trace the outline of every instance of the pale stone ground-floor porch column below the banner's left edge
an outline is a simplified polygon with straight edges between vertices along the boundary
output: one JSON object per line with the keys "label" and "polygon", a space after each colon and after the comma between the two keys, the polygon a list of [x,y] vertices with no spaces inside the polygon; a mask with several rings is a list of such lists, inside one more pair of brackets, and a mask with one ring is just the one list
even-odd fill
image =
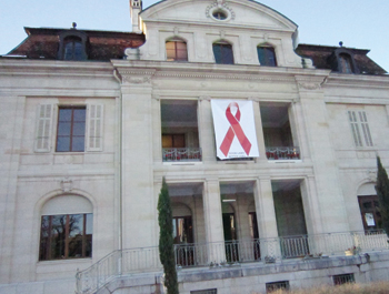
{"label": "pale stone ground-floor porch column below the banner's left edge", "polygon": [[208,179],[205,182],[203,190],[202,200],[208,261],[220,263],[226,261],[226,251],[219,181],[217,179]]}

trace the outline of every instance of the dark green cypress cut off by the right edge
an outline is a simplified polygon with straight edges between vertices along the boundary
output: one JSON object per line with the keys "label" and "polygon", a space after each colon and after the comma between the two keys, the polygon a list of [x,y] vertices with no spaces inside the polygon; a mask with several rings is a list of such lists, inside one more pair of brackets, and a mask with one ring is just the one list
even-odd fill
{"label": "dark green cypress cut off by the right edge", "polygon": [[381,213],[382,229],[389,236],[389,179],[379,156],[377,156],[377,166],[376,191],[380,203],[379,212]]}

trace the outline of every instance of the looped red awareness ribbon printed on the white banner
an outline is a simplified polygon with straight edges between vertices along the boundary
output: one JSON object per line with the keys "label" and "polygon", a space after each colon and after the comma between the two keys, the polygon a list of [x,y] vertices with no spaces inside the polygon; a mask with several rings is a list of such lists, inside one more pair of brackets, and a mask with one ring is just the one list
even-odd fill
{"label": "looped red awareness ribbon printed on the white banner", "polygon": [[[238,109],[237,113],[235,115],[231,113],[232,107],[236,107]],[[225,156],[227,156],[228,152],[230,151],[232,140],[235,136],[237,136],[239,140],[239,143],[243,148],[246,154],[249,155],[250,149],[251,149],[251,143],[250,143],[249,139],[247,139],[242,128],[240,126],[240,123],[239,123],[240,122],[240,110],[239,110],[238,103],[232,102],[228,105],[228,108],[226,110],[226,118],[229,121],[229,123],[231,124],[231,126],[228,129],[228,132],[223,139],[223,142],[220,145],[221,152],[225,154]]]}

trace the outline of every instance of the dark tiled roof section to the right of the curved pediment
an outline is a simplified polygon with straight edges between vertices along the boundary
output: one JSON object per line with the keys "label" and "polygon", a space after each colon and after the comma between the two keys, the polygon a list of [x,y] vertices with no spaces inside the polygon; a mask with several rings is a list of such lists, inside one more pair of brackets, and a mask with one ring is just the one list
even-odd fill
{"label": "dark tiled roof section to the right of the curved pediment", "polygon": [[[317,44],[299,44],[296,52],[313,61],[313,65],[317,69],[331,70],[330,57],[340,47],[332,45],[317,45]],[[368,49],[356,49],[342,47],[342,49],[353,54],[353,59],[361,73],[365,74],[385,74],[387,73],[381,67],[372,61],[367,54],[370,52]]]}

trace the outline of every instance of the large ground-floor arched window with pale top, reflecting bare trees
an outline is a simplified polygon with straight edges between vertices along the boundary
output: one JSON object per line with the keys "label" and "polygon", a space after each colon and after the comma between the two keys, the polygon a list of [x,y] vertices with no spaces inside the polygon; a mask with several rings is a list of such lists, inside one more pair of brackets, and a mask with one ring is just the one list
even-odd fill
{"label": "large ground-floor arched window with pale top, reflecting bare trees", "polygon": [[78,195],[49,200],[41,211],[39,261],[92,256],[92,204]]}

